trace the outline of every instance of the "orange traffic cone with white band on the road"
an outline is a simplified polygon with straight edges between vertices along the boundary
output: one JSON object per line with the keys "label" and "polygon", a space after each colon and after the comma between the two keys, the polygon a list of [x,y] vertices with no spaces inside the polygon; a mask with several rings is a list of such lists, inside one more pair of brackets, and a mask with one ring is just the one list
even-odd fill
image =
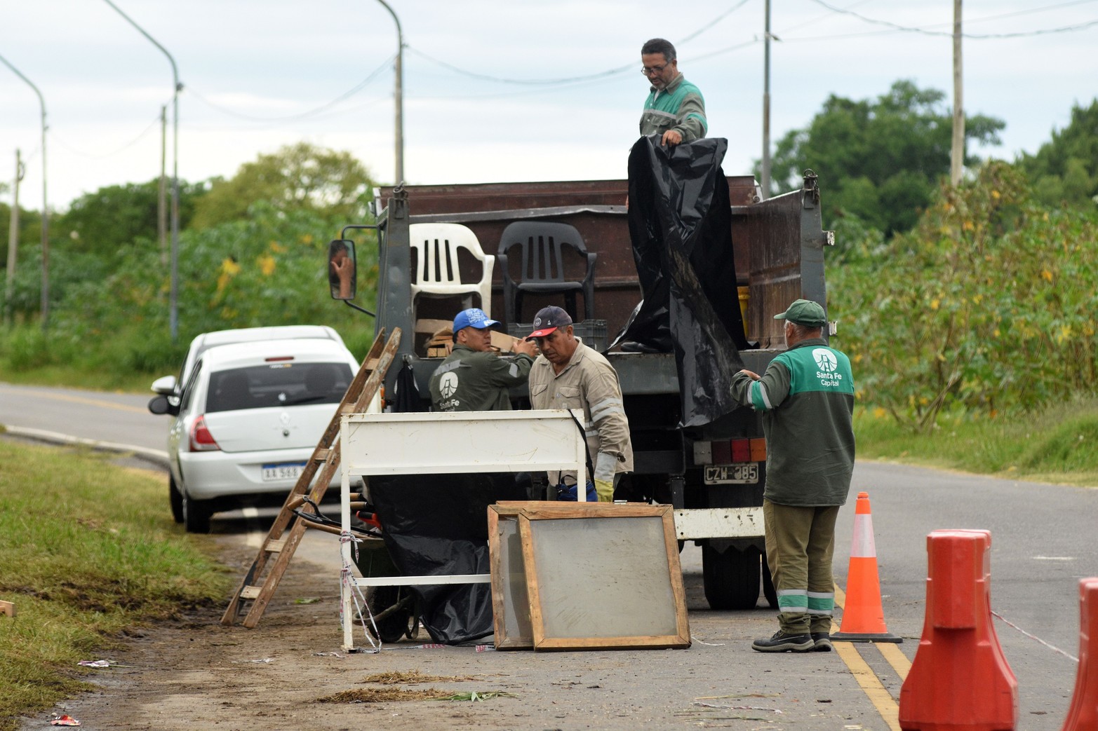
{"label": "orange traffic cone with white band on the road", "polygon": [[842,625],[831,639],[844,642],[904,641],[904,638],[889,634],[885,627],[869,493],[858,493],[854,538],[850,544],[850,571],[847,572],[847,604],[842,608]]}

